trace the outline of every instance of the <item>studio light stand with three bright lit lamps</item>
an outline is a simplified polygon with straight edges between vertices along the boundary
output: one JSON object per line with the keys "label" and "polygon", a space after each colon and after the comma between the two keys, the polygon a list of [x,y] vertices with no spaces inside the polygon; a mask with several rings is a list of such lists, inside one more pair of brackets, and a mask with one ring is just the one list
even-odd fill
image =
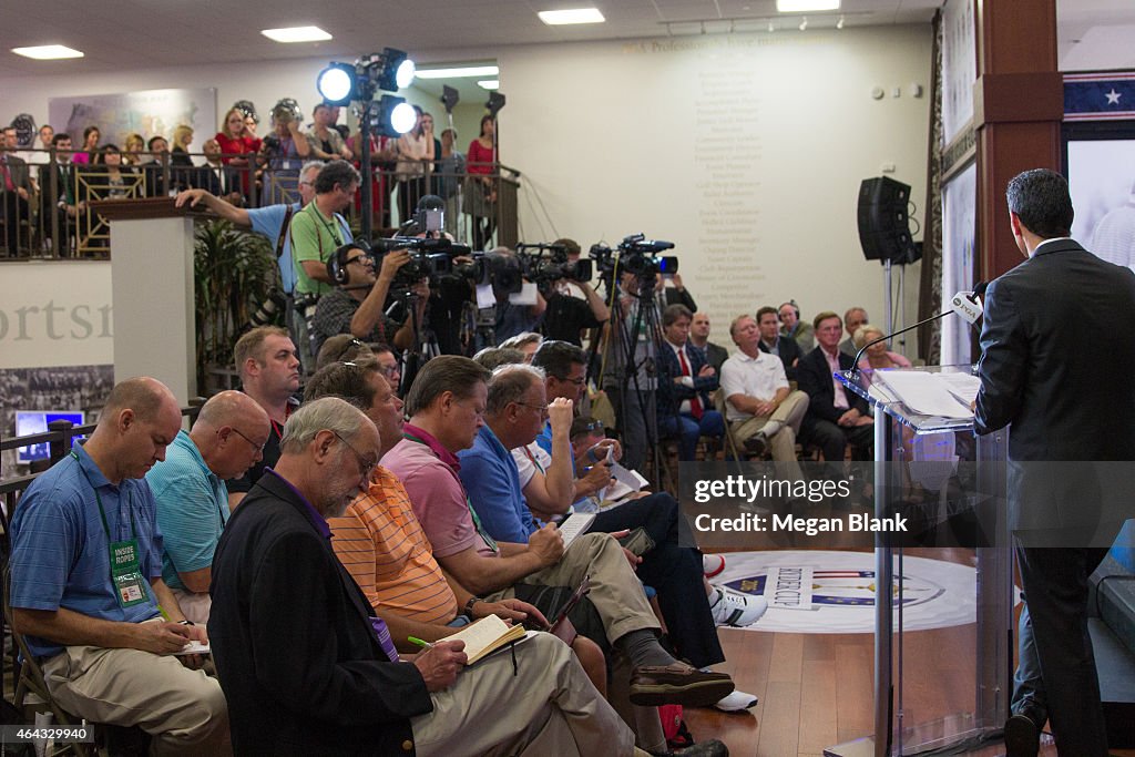
{"label": "studio light stand with three bright lit lamps", "polygon": [[[360,103],[359,138],[362,142],[361,161],[367,175],[362,182],[362,236],[370,238],[373,208],[371,207],[371,150],[372,129],[384,136],[398,136],[414,127],[417,113],[405,98],[378,92],[397,92],[414,81],[414,61],[405,52],[384,48],[359,58],[354,66],[331,62],[319,73],[316,89],[323,101],[331,106]],[[409,116],[407,116],[409,113]]]}

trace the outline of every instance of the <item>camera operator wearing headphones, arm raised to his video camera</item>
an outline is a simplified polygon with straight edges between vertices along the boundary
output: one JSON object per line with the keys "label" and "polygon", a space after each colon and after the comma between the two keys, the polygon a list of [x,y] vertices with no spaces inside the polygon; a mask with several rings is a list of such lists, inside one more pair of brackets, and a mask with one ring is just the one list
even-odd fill
{"label": "camera operator wearing headphones, arm raised to his video camera", "polygon": [[[320,298],[311,321],[311,340],[318,354],[328,337],[351,334],[363,342],[392,343],[400,350],[413,344],[413,325],[389,318],[386,298],[398,269],[410,262],[405,250],[382,256],[381,268],[375,272],[375,260],[365,242],[344,244],[327,261],[327,274],[338,286]],[[422,291],[424,295],[424,291]],[[426,308],[426,297],[418,298],[419,319]]]}

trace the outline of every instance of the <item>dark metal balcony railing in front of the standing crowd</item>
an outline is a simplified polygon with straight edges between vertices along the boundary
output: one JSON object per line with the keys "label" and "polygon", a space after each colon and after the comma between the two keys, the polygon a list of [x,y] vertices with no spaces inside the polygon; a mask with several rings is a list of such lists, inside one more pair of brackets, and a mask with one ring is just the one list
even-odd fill
{"label": "dark metal balcony railing in front of the standing crowd", "polygon": [[[10,154],[10,153],[9,153]],[[271,154],[220,155],[210,165],[204,153],[144,153],[145,163],[112,168],[102,162],[74,163],[72,153],[26,150],[27,165],[15,192],[0,185],[0,259],[107,258],[109,224],[91,202],[109,199],[157,197],[187,188],[203,188],[233,204],[258,208],[299,200],[302,160]],[[235,166],[233,160],[246,165]],[[203,163],[203,165],[202,165]],[[353,161],[361,168],[360,161]],[[420,163],[420,165],[415,165]],[[476,250],[519,242],[520,173],[501,163],[471,165],[473,174],[439,170],[440,161],[371,160],[372,236],[403,227],[422,195],[435,194],[446,204],[445,230]],[[446,163],[447,165],[447,163]],[[485,170],[487,173],[477,173]],[[19,190],[23,190],[20,192]],[[26,196],[25,196],[26,195]],[[347,208],[359,228],[361,197]]]}

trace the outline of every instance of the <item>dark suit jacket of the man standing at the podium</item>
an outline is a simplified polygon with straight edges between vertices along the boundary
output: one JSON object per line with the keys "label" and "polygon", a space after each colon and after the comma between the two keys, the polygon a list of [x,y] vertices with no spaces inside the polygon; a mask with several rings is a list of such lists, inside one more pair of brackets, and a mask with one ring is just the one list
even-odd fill
{"label": "dark suit jacket of the man standing at the podium", "polygon": [[1129,476],[1059,461],[1135,460],[1133,333],[1135,274],[1071,239],[990,284],[974,420],[978,434],[1012,426],[1009,528],[1031,545],[1107,545],[1129,514]]}

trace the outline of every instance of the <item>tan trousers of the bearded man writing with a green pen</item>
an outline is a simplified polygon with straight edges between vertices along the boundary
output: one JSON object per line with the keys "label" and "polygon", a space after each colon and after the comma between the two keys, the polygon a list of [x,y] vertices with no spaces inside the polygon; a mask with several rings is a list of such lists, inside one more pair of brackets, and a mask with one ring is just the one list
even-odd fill
{"label": "tan trousers of the bearded man writing with a green pen", "polygon": [[[574,546],[572,547],[574,549]],[[410,720],[421,757],[633,754],[634,737],[560,639],[538,633],[462,671]]]}

